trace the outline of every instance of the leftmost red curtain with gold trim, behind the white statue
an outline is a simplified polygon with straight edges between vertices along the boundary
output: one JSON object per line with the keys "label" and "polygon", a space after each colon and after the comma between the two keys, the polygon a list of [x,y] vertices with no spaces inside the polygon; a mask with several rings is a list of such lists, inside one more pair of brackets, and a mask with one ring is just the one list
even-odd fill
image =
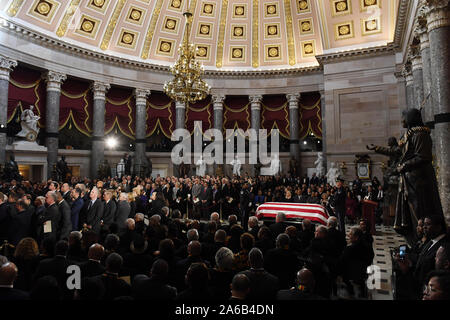
{"label": "leftmost red curtain with gold trim, behind the white statue", "polygon": [[8,122],[14,118],[18,107],[24,110],[33,105],[34,113],[41,117],[38,125],[44,128],[46,97],[46,85],[41,79],[41,72],[17,66],[11,71],[9,79]]}

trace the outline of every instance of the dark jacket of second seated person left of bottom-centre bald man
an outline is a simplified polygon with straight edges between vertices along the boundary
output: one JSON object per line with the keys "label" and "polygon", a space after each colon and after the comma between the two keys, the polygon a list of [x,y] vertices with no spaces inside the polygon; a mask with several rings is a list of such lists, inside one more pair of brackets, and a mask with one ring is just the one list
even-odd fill
{"label": "dark jacket of second seated person left of bottom-centre bald man", "polygon": [[175,300],[177,289],[159,277],[137,275],[133,280],[132,296],[136,300]]}

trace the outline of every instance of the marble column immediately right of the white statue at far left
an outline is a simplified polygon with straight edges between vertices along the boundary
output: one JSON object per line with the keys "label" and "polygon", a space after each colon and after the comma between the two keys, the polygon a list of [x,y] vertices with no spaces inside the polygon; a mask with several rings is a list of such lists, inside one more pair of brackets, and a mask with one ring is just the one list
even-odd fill
{"label": "marble column immediately right of the white statue at far left", "polygon": [[59,99],[61,84],[67,76],[59,72],[48,71],[44,78],[47,82],[45,146],[47,147],[47,178],[50,178],[58,161]]}

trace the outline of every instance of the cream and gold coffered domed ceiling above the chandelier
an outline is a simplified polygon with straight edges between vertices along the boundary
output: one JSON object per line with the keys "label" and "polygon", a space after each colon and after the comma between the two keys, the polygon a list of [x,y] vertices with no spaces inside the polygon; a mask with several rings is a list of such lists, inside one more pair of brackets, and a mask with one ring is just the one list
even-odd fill
{"label": "cream and gold coffered domed ceiling above the chandelier", "polygon": [[210,70],[310,67],[393,40],[398,0],[9,0],[5,19],[83,48],[170,65],[190,41]]}

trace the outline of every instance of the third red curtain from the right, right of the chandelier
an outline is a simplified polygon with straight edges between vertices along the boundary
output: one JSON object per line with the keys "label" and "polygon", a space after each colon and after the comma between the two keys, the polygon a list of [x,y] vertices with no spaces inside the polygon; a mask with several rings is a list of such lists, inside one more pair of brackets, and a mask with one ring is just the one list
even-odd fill
{"label": "third red curtain from the right, right of the chandelier", "polygon": [[[228,96],[224,101],[223,130],[242,129],[244,132],[251,127],[250,103],[248,96]],[[228,136],[226,138],[229,138]]]}

